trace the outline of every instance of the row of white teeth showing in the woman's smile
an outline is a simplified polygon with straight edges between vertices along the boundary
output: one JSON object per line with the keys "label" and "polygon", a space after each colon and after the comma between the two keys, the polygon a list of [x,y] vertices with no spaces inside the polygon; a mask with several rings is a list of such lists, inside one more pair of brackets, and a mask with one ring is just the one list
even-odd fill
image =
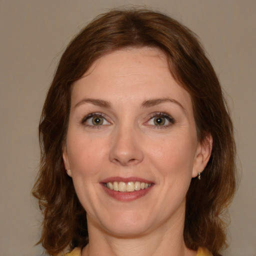
{"label": "row of white teeth showing in the woman's smile", "polygon": [[134,190],[146,189],[151,186],[152,183],[145,183],[140,181],[129,181],[125,182],[107,182],[105,186],[111,190],[120,191],[120,192],[133,192]]}

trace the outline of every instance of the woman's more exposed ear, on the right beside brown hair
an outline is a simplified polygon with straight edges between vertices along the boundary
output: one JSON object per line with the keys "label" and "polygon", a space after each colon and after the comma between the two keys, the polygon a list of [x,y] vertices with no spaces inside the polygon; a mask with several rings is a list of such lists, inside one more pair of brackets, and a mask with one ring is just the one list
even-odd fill
{"label": "woman's more exposed ear, on the right beside brown hair", "polygon": [[201,142],[198,142],[194,157],[192,177],[196,177],[198,172],[205,168],[211,154],[212,136],[207,134]]}

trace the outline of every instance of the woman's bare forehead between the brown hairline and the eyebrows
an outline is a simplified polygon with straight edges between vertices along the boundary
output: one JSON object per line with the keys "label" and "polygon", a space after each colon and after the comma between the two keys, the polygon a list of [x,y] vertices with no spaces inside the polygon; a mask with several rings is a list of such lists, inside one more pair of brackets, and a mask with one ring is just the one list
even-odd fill
{"label": "woman's bare forehead between the brown hairline and the eyebrows", "polygon": [[[73,83],[71,98],[146,100],[172,97],[189,107],[190,95],[174,80],[165,54],[157,48],[125,48],[107,53],[93,62]],[[72,100],[72,101],[73,101]]]}

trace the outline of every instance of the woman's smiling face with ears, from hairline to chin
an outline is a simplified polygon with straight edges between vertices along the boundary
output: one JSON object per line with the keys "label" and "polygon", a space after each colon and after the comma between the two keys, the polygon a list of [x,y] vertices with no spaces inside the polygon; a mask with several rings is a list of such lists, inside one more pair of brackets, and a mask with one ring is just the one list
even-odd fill
{"label": "woman's smiling face with ears, from hairline to chin", "polygon": [[88,226],[127,236],[182,225],[209,151],[160,50],[111,52],[74,82],[63,159]]}

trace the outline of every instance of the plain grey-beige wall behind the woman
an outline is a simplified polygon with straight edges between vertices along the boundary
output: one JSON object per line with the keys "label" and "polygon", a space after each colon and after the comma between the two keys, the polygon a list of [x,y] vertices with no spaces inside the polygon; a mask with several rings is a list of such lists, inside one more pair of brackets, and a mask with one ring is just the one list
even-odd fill
{"label": "plain grey-beige wall behind the woman", "polygon": [[242,165],[223,255],[256,255],[255,0],[0,0],[1,256],[42,252],[33,246],[41,215],[30,190],[40,111],[62,50],[95,15],[129,3],[164,11],[201,38],[230,103]]}

